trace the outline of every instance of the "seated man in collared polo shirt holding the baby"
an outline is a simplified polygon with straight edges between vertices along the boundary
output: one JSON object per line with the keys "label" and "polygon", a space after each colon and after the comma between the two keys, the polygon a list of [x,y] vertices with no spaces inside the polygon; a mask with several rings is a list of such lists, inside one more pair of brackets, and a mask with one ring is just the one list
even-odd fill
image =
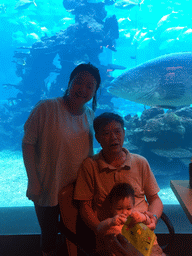
{"label": "seated man in collared polo shirt holding the baby", "polygon": [[[135,209],[147,212],[151,218],[148,227],[155,229],[163,211],[158,196],[159,187],[147,160],[123,148],[125,130],[123,119],[114,113],[103,113],[94,119],[95,137],[102,150],[85,159],[80,166],[74,199],[80,201],[80,215],[95,236],[100,236],[100,223],[105,220],[106,197],[116,183],[127,182],[135,191]],[[147,201],[146,201],[146,199]],[[140,255],[130,251],[130,244],[122,236],[103,237],[107,251],[115,255]],[[125,245],[120,249],[118,241]],[[130,250],[134,250],[131,248]],[[121,251],[121,252],[120,252]]]}

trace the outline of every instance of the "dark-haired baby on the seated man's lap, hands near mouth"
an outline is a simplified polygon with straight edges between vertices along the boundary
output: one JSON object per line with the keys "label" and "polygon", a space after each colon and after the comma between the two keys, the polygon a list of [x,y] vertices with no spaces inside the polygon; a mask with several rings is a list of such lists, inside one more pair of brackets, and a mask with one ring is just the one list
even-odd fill
{"label": "dark-haired baby on the seated man's lap, hands near mouth", "polygon": [[[116,184],[106,199],[109,205],[109,216],[104,221],[100,222],[98,230],[100,234],[115,234],[121,233],[122,227],[127,218],[130,216],[131,222],[129,227],[134,226],[136,223],[142,222],[145,225],[151,223],[151,218],[145,212],[134,210],[135,195],[134,189],[128,183]],[[157,241],[154,242],[152,254],[154,256],[165,255],[159,247]],[[97,241],[98,250],[102,250],[102,240]]]}

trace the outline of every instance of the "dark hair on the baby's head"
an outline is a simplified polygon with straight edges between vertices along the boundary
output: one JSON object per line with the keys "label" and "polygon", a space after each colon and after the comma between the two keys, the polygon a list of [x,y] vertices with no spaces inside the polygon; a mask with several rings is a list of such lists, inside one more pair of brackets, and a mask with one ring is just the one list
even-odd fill
{"label": "dark hair on the baby's head", "polygon": [[133,187],[128,183],[118,183],[112,188],[111,192],[107,196],[107,200],[112,205],[114,202],[118,202],[126,197],[131,197],[133,205],[135,204],[135,192]]}

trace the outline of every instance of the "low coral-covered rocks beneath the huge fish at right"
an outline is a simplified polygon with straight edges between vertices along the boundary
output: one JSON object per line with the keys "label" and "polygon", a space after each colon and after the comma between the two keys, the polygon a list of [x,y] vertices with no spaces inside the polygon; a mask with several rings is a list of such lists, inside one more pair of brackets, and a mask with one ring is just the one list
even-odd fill
{"label": "low coral-covered rocks beneath the huge fish at right", "polygon": [[154,154],[168,161],[189,163],[192,156],[192,108],[144,110],[141,117],[125,117],[128,148],[147,158]]}

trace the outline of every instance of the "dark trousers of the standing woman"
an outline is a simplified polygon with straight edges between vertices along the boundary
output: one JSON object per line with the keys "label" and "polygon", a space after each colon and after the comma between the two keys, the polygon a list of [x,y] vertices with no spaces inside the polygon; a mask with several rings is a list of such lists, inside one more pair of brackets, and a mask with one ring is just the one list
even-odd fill
{"label": "dark trousers of the standing woman", "polygon": [[59,225],[59,205],[39,206],[35,204],[37,219],[41,228],[41,249],[44,252],[56,250]]}

